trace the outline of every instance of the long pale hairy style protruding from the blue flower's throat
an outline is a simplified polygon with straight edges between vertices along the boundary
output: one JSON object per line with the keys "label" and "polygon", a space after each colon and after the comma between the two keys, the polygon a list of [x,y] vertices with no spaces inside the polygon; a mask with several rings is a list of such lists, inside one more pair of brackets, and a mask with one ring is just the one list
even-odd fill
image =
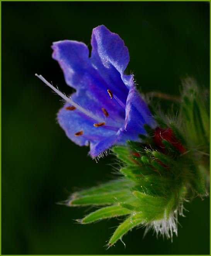
{"label": "long pale hairy style protruding from the blue flower's throat", "polygon": [[68,103],[70,103],[71,105],[73,105],[75,108],[77,108],[80,112],[84,113],[85,115],[87,115],[88,117],[91,117],[94,120],[97,120],[99,122],[105,122],[104,119],[94,115],[92,112],[85,110],[84,108],[82,108],[80,105],[78,105],[77,103],[75,103],[73,100],[71,100],[71,98],[67,97],[65,94],[63,94],[61,91],[59,91],[58,89],[56,89],[52,84],[50,84],[48,81],[46,81],[46,79],[44,79],[43,76],[41,75],[37,75],[35,74],[35,76],[37,76],[39,79],[41,79],[46,85],[48,85],[51,89],[53,89],[59,96],[61,96],[64,100],[66,100]]}

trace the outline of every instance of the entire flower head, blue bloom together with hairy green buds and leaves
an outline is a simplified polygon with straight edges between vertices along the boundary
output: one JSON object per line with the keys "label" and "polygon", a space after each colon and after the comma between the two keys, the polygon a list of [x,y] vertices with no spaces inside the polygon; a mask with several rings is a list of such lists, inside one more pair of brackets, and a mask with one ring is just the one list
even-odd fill
{"label": "entire flower head, blue bloom together with hairy green buds and leaves", "polygon": [[[172,239],[187,197],[193,193],[208,196],[207,108],[197,98],[196,83],[187,82],[180,115],[184,116],[183,131],[192,129],[190,135],[183,136],[174,122],[151,114],[135,88],[133,75],[124,73],[129,53],[117,34],[98,26],[93,29],[91,45],[89,57],[82,42],[53,43],[53,58],[59,62],[66,83],[76,89],[71,96],[36,76],[65,99],[58,122],[73,142],[90,145],[93,158],[114,146],[121,178],[74,193],[65,204],[102,206],[78,220],[83,224],[126,216],[108,247],[140,225],[146,226],[145,234],[152,228],[157,236],[160,233]],[[200,137],[200,151],[196,135]]]}

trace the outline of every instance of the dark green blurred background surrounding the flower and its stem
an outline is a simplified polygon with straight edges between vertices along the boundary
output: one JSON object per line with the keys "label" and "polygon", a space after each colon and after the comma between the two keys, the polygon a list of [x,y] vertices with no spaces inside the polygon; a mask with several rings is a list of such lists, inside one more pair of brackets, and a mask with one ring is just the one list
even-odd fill
{"label": "dark green blurred background surrounding the flower and its stem", "polygon": [[[209,2],[2,2],[2,254],[209,254],[209,198],[185,204],[173,243],[134,229],[109,250],[119,220],[78,225],[93,209],[56,204],[70,192],[112,179],[112,159],[98,163],[56,123],[66,94],[53,41],[90,46],[104,24],[129,49],[128,73],[141,91],[179,96],[181,79],[209,88]],[[167,103],[168,105],[168,103]],[[170,103],[169,103],[170,105]]]}

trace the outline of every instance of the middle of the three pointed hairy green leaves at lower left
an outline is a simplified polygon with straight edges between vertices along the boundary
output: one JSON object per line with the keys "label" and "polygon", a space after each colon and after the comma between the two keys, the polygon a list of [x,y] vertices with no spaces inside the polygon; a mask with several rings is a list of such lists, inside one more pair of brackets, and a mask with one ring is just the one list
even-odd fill
{"label": "middle of the three pointed hairy green leaves at lower left", "polygon": [[107,207],[101,208],[97,211],[94,211],[93,213],[90,213],[85,218],[83,218],[82,220],[78,220],[78,221],[82,224],[86,224],[86,223],[94,222],[96,220],[127,215],[130,213],[131,213],[131,211],[129,211],[127,209],[123,209],[118,205],[107,206]]}

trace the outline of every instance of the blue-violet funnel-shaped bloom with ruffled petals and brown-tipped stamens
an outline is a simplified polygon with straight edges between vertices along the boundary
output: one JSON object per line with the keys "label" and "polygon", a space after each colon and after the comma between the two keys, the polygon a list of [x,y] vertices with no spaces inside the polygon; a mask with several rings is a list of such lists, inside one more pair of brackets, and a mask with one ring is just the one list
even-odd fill
{"label": "blue-violet funnel-shaped bloom with ruffled petals and brown-tipped stamens", "polygon": [[[53,58],[64,72],[66,83],[76,89],[71,102],[58,113],[58,122],[76,144],[90,145],[90,155],[99,156],[116,143],[139,140],[143,124],[152,124],[150,110],[125,75],[128,48],[104,25],[92,31],[92,52],[78,41],[53,43]],[[80,105],[80,110],[78,105]],[[87,111],[88,110],[88,111]]]}

